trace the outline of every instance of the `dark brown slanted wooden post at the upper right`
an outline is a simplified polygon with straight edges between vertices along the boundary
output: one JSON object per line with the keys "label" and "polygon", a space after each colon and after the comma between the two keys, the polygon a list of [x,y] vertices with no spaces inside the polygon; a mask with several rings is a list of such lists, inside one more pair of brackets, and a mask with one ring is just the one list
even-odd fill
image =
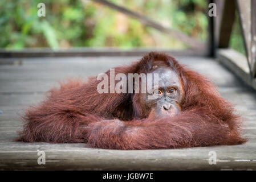
{"label": "dark brown slanted wooden post at the upper right", "polygon": [[220,24],[219,48],[229,47],[229,39],[235,20],[235,2],[234,0],[225,0],[222,18]]}

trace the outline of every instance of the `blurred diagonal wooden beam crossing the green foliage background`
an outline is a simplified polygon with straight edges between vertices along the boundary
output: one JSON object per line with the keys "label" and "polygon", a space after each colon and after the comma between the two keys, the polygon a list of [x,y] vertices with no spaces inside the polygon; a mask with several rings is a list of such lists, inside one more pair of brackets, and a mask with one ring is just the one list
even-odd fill
{"label": "blurred diagonal wooden beam crossing the green foliage background", "polygon": [[104,6],[108,6],[111,9],[117,10],[120,13],[123,13],[125,15],[131,16],[132,18],[135,18],[135,19],[139,20],[145,26],[152,27],[152,28],[155,28],[156,30],[164,32],[167,35],[170,35],[173,38],[176,38],[177,40],[180,40],[181,42],[183,42],[185,44],[188,44],[192,48],[199,48],[199,49],[204,49],[205,48],[205,44],[201,43],[199,40],[191,38],[191,37],[183,34],[180,31],[173,30],[172,28],[162,26],[162,24],[157,23],[154,20],[149,19],[148,17],[146,17],[144,15],[141,15],[139,13],[135,13],[131,10],[128,10],[125,7],[115,5],[114,3],[109,2],[109,1],[105,1],[105,0],[92,0],[92,1],[100,3],[101,5],[104,5]]}

